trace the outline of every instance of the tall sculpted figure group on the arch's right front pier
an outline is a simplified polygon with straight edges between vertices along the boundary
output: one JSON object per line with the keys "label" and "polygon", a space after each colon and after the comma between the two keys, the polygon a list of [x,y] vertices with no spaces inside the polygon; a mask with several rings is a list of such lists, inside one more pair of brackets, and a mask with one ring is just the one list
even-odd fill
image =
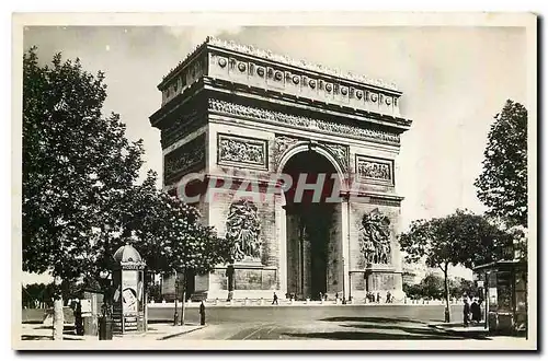
{"label": "tall sculpted figure group on the arch's right front pier", "polygon": [[390,264],[390,220],[378,208],[362,218],[361,251],[367,265]]}

